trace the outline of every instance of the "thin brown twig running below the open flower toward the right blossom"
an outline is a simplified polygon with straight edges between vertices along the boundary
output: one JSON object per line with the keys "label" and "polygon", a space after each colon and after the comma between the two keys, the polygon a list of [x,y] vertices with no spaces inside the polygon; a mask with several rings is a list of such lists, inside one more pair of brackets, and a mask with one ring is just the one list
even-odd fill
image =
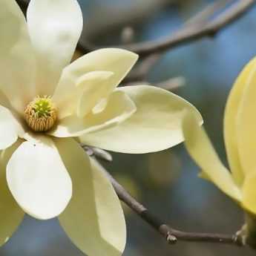
{"label": "thin brown twig running below the open flower toward the right blossom", "polygon": [[125,188],[120,185],[111,174],[108,173],[105,168],[102,167],[102,171],[111,180],[112,185],[118,195],[119,199],[122,200],[130,209],[138,214],[142,220],[144,220],[152,228],[156,229],[163,237],[165,237],[168,243],[174,244],[178,240],[191,241],[191,242],[209,242],[209,243],[229,243],[236,246],[243,246],[243,242],[238,234],[209,234],[209,233],[194,233],[194,232],[182,232],[177,229],[172,229],[170,226],[165,224],[163,220],[154,215],[150,210],[145,208],[139,203]]}

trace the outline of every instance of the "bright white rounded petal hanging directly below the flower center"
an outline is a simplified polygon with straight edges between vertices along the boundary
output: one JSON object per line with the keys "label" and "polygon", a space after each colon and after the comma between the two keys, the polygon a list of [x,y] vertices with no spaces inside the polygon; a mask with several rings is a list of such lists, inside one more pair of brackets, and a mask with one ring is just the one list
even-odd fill
{"label": "bright white rounded petal hanging directly below the flower center", "polygon": [[7,164],[7,184],[19,206],[40,220],[59,215],[68,205],[72,183],[53,141],[23,142]]}

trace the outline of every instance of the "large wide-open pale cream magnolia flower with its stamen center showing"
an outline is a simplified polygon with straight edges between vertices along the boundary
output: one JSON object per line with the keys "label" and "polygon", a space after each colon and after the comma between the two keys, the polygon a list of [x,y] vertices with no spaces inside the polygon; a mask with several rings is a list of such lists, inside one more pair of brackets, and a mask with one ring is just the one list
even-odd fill
{"label": "large wide-open pale cream magnolia flower with its stamen center showing", "polygon": [[83,23],[76,0],[31,0],[27,21],[16,1],[1,0],[0,21],[0,243],[25,212],[59,216],[88,255],[121,255],[119,200],[78,141],[160,151],[183,141],[186,111],[202,122],[200,114],[160,88],[116,89],[137,61],[127,50],[96,50],[69,65]]}

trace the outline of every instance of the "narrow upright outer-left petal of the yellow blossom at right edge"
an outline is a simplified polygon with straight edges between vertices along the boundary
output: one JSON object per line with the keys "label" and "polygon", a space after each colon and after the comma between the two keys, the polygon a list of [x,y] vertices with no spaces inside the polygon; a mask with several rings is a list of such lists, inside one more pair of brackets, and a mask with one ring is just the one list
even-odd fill
{"label": "narrow upright outer-left petal of the yellow blossom at right edge", "polygon": [[243,168],[240,163],[240,157],[237,145],[237,113],[240,102],[243,98],[249,74],[256,68],[256,58],[252,59],[234,82],[232,91],[229,93],[229,98],[226,103],[224,115],[224,138],[226,145],[226,153],[229,160],[229,165],[232,170],[232,175],[237,185],[243,183]]}

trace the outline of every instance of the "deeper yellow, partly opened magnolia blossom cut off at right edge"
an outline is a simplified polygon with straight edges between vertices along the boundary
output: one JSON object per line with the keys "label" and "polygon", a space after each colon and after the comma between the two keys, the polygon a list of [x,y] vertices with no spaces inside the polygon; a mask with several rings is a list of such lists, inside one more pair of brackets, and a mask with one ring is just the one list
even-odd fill
{"label": "deeper yellow, partly opened magnolia blossom cut off at right edge", "polygon": [[183,132],[186,148],[211,180],[249,214],[256,214],[256,59],[238,76],[226,104],[224,137],[231,172],[220,162],[206,132],[186,116]]}

